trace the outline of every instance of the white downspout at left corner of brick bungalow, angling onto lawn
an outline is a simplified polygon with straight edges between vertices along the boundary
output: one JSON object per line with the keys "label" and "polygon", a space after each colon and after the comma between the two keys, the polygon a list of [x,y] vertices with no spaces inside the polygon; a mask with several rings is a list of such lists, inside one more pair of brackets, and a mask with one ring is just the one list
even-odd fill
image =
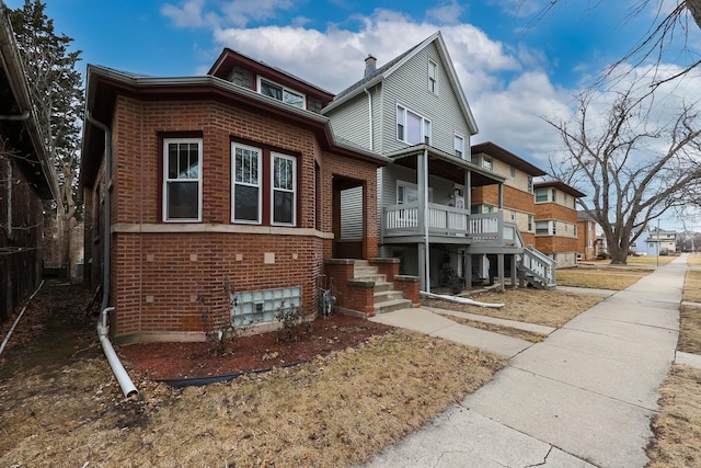
{"label": "white downspout at left corner of brick bungalow, angling onto lawn", "polygon": [[103,243],[103,274],[102,274],[102,313],[100,315],[100,319],[97,320],[97,336],[100,336],[100,344],[102,345],[102,350],[107,357],[107,362],[110,363],[110,367],[112,367],[112,372],[114,373],[119,387],[122,387],[122,392],[125,397],[129,398],[131,395],[138,393],[136,387],[131,383],[129,375],[124,369],[124,366],[119,362],[117,357],[117,353],[115,353],[112,343],[110,342],[108,333],[110,327],[107,326],[107,313],[114,310],[114,307],[107,307],[110,304],[110,284],[111,279],[111,239],[112,239],[112,130],[102,122],[93,118],[90,111],[85,112],[85,119],[90,122],[92,125],[102,129],[105,134],[105,183],[104,183],[104,195],[105,195],[105,208],[104,208],[104,243]]}

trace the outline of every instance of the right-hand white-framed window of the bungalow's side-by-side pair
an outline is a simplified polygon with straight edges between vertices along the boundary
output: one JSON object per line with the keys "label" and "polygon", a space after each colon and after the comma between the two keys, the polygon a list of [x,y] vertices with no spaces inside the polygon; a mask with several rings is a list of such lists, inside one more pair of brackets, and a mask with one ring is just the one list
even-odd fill
{"label": "right-hand white-framed window of the bungalow's side-by-side pair", "polygon": [[272,224],[294,226],[297,222],[297,159],[277,152],[273,152],[272,158]]}

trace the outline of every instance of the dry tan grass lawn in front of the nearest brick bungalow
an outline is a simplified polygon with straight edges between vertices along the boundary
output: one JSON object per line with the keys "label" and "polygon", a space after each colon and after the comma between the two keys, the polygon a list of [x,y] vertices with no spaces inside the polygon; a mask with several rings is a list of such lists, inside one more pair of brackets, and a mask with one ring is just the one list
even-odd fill
{"label": "dry tan grass lawn in front of the nearest brick bungalow", "polygon": [[[489,381],[505,359],[405,331],[207,387],[137,381],[103,358],[0,386],[0,466],[350,466]],[[89,464],[89,465],[88,465]]]}

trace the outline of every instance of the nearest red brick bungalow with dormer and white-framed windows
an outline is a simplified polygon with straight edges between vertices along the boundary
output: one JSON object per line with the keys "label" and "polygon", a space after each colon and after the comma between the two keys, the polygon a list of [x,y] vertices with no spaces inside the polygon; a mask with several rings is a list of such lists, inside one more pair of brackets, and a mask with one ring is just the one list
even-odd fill
{"label": "nearest red brick bungalow with dormer and white-framed windows", "polygon": [[331,99],[230,49],[194,78],[88,67],[87,277],[110,276],[117,342],[202,340],[204,317],[232,309],[239,324],[274,322],[283,304],[315,311],[343,190],[361,187],[358,249],[377,255],[388,159],[334,139],[318,113]]}

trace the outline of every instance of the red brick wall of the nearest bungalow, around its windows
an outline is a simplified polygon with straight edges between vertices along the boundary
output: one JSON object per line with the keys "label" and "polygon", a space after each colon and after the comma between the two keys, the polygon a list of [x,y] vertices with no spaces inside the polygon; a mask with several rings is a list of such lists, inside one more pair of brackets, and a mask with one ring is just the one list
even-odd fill
{"label": "red brick wall of the nearest bungalow, around its windows", "polygon": [[[203,138],[202,222],[161,222],[159,135],[177,133],[199,133]],[[304,229],[301,235],[275,233],[271,231],[279,230],[265,226],[258,227],[260,233],[230,231],[231,138],[298,157],[295,233]],[[332,232],[334,179],[365,184],[364,254],[377,255],[376,165],[323,151],[309,129],[212,101],[140,102],[119,96],[113,141],[112,221],[116,232],[112,236],[111,297],[117,340],[138,341],[143,333],[202,332],[198,297],[226,309],[227,278],[239,292],[301,286],[302,309],[315,311],[315,277],[323,259],[331,255],[333,241],[313,229],[323,236]],[[147,232],[143,225],[146,230],[161,232]],[[275,263],[264,263],[264,253],[274,254]]]}

